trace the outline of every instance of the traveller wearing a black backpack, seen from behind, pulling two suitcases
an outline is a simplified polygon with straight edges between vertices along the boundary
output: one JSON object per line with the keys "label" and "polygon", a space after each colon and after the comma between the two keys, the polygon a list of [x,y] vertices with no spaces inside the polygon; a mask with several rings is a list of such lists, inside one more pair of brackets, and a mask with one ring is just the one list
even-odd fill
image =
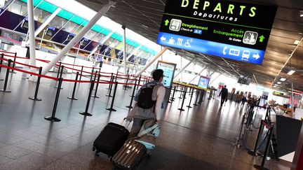
{"label": "traveller wearing a black backpack, seen from behind, pulling two suitcases", "polygon": [[142,126],[147,129],[160,120],[161,106],[166,94],[166,88],[161,83],[163,70],[152,71],[152,77],[154,80],[142,85],[135,95],[135,106],[126,117],[126,120],[133,120],[128,139],[137,136]]}

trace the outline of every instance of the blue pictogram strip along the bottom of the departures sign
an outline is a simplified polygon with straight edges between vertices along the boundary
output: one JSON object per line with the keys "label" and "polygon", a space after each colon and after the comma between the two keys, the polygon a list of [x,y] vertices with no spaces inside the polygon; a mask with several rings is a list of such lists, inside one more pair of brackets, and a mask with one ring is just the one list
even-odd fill
{"label": "blue pictogram strip along the bottom of the departures sign", "polygon": [[213,41],[205,41],[198,38],[190,38],[187,36],[179,36],[164,32],[159,32],[157,43],[159,45],[166,45],[173,48],[191,50],[201,52],[203,54],[215,55],[228,59],[234,59],[240,62],[248,62],[260,65],[262,64],[265,53],[264,50],[243,48],[236,45],[216,43]]}

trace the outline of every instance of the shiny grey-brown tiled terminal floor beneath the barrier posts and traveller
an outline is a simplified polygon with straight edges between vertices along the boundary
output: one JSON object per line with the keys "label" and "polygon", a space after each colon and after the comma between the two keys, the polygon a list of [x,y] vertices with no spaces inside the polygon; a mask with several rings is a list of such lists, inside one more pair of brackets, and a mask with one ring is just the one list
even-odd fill
{"label": "shiny grey-brown tiled terminal floor beneath the barrier posts and traveller", "polygon": [[[4,78],[2,69],[1,78]],[[65,77],[74,75],[65,75]],[[83,78],[84,79],[84,78]],[[0,82],[0,88],[4,82]],[[61,122],[49,122],[55,100],[55,82],[42,79],[39,97],[32,101],[35,83],[22,78],[21,73],[10,76],[11,93],[0,92],[0,169],[113,169],[106,155],[95,157],[93,141],[107,122],[120,123],[127,115],[132,90],[119,85],[114,108],[109,112],[112,98],[105,97],[108,85],[100,85],[99,99],[91,98],[89,113],[84,117],[88,83],[77,87],[77,101],[67,99],[74,83],[63,83],[56,117]],[[178,94],[180,95],[180,94]],[[179,96],[177,96],[179,97]],[[184,106],[189,103],[187,97]],[[222,109],[217,99],[204,99],[194,108],[180,112],[181,101],[166,104],[161,121],[161,135],[152,157],[144,158],[137,169],[254,169],[261,157],[248,155],[246,150],[231,146],[245,111],[239,104],[228,101]],[[257,132],[253,130],[252,134]],[[254,138],[248,142],[253,149]],[[290,163],[269,160],[270,169],[290,169]]]}

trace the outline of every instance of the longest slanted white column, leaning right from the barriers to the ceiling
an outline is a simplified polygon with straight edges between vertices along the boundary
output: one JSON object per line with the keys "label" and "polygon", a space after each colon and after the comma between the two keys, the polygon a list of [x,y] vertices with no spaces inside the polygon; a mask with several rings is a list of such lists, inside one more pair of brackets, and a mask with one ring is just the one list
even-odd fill
{"label": "longest slanted white column, leaning right from the barriers to the ceiling", "polygon": [[74,47],[74,45],[86,34],[86,32],[88,30],[90,30],[91,27],[93,27],[93,25],[97,22],[97,20],[100,19],[100,17],[102,17],[102,15],[104,15],[107,10],[109,10],[109,8],[116,4],[116,2],[114,1],[109,1],[107,4],[105,4],[105,6],[103,6],[98,12],[97,14],[90,20],[90,22],[88,22],[88,24],[86,24],[85,27],[83,27],[83,29],[81,29],[81,31],[79,32],[79,34],[77,34],[74,38],[72,38],[71,41],[69,41],[69,43],[67,45],[65,45],[65,48],[63,48],[58,55],[43,69],[42,74],[45,75],[46,73],[48,73],[48,71],[50,71],[50,69],[55,66],[55,64],[62,58],[65,56],[65,54],[72,48]]}

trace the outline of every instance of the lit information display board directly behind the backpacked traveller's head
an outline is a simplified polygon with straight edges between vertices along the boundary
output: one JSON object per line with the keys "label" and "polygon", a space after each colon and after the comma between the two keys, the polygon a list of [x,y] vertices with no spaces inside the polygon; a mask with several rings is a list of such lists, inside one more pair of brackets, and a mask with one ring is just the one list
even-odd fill
{"label": "lit information display board directly behind the backpacked traveller's head", "polygon": [[175,67],[177,64],[170,62],[158,61],[157,69],[163,70],[163,85],[165,87],[171,87],[173,84],[173,77],[175,74]]}

